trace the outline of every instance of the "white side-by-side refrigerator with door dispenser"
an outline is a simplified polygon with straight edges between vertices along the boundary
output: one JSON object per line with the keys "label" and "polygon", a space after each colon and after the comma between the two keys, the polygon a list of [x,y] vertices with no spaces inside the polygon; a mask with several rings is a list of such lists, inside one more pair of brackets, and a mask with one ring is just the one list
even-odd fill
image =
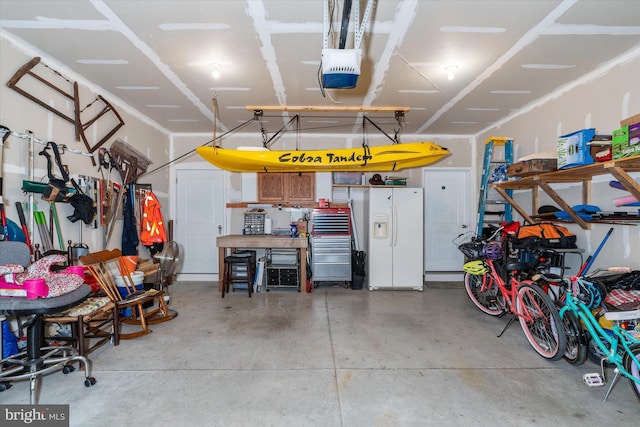
{"label": "white side-by-side refrigerator with door dispenser", "polygon": [[373,187],[369,193],[369,290],[424,285],[422,188]]}

